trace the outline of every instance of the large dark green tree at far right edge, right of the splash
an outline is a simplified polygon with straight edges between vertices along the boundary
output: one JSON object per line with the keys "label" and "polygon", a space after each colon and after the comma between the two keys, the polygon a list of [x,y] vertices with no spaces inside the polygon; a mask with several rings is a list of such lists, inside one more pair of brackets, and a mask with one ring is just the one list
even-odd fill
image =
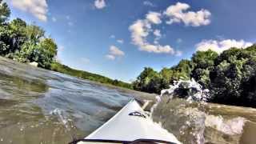
{"label": "large dark green tree at far right edge, right of the splash", "polygon": [[224,51],[210,71],[212,102],[256,106],[256,46]]}

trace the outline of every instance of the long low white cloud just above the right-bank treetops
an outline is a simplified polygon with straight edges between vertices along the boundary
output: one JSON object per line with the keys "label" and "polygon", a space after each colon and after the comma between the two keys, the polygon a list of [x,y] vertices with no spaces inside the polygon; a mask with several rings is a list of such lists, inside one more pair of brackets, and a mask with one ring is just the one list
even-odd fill
{"label": "long low white cloud just above the right-bank treetops", "polygon": [[252,46],[252,42],[245,42],[244,40],[235,40],[235,39],[226,39],[222,41],[216,40],[203,40],[196,45],[196,49],[199,51],[206,51],[206,50],[214,50],[218,54],[222,53],[224,50],[228,50],[231,47],[237,48],[246,48],[248,46]]}

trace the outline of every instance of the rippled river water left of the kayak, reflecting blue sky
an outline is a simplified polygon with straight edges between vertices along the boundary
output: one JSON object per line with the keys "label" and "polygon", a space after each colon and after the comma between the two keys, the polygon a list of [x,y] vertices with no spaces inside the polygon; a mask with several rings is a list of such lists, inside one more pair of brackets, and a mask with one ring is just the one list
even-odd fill
{"label": "rippled river water left of the kayak, reflecting blue sky", "polygon": [[83,138],[121,109],[127,95],[0,58],[0,143]]}

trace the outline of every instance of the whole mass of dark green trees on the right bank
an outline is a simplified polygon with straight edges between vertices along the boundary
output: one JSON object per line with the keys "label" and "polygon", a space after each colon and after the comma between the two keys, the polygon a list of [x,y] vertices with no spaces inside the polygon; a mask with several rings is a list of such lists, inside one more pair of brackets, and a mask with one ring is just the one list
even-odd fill
{"label": "whole mass of dark green trees on the right bank", "polygon": [[159,93],[174,80],[190,78],[210,90],[209,102],[256,107],[256,45],[222,54],[197,51],[190,61],[182,60],[159,73],[146,67],[133,85],[135,90]]}

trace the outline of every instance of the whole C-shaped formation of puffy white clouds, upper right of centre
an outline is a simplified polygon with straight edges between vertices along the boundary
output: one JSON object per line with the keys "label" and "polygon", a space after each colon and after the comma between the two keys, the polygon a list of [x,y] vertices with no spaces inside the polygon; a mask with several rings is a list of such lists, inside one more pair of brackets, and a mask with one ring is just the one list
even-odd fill
{"label": "whole C-shaped formation of puffy white clouds, upper right of centre", "polygon": [[[210,24],[211,14],[209,10],[202,9],[194,12],[188,11],[189,8],[190,6],[186,3],[177,2],[175,5],[167,7],[163,13],[154,11],[148,12],[145,18],[138,19],[129,27],[133,44],[138,46],[139,50],[181,56],[182,51],[174,50],[170,45],[162,46],[159,44],[162,34],[155,26],[162,23],[163,17],[169,19],[166,22],[167,24],[174,22],[182,22],[186,26],[205,26]],[[150,34],[154,35],[154,42],[152,43],[147,41]],[[182,42],[182,39],[178,39],[177,42]]]}

